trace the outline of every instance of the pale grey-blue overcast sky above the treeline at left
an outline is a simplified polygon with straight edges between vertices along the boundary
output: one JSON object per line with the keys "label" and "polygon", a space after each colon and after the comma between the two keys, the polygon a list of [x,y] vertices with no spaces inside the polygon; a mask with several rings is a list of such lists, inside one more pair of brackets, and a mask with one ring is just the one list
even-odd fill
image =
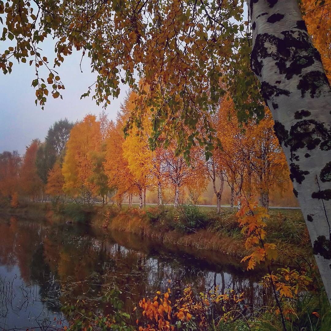
{"label": "pale grey-blue overcast sky above the treeline at left", "polygon": [[[53,49],[53,42],[45,45],[44,50],[49,50],[46,56],[54,54],[51,52]],[[2,52],[3,49],[0,49],[0,53]],[[86,58],[83,62],[83,73],[80,72],[80,54],[76,52],[65,57],[64,63],[58,69],[66,87],[62,91],[63,100],[53,99],[50,93],[44,110],[34,103],[35,90],[31,87],[31,81],[35,78],[33,65],[29,67],[28,61],[20,65],[13,61],[11,74],[4,75],[2,71],[0,72],[0,153],[17,150],[20,154],[24,154],[25,146],[32,139],[44,140],[49,127],[55,121],[61,118],[76,121],[81,120],[88,113],[98,115],[101,112],[101,106],[98,107],[91,97],[80,100],[80,96],[95,81],[95,76],[91,74],[89,59]],[[53,59],[54,57],[48,57],[51,64]],[[47,76],[48,74],[45,78]],[[106,110],[110,119],[116,118],[116,113],[128,90],[127,86],[120,87],[118,99],[112,101]]]}

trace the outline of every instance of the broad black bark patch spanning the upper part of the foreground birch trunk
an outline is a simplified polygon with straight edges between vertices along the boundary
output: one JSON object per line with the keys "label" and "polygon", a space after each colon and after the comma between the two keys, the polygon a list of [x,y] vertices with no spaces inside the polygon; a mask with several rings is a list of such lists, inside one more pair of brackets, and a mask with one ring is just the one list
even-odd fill
{"label": "broad black bark patch spanning the upper part of the foreground birch trunk", "polygon": [[315,60],[320,61],[320,55],[312,46],[306,32],[297,30],[281,33],[283,38],[268,33],[256,36],[251,66],[258,76],[261,76],[263,59],[268,57],[276,61],[279,73],[285,74],[286,79],[301,74],[302,70],[311,66]]}

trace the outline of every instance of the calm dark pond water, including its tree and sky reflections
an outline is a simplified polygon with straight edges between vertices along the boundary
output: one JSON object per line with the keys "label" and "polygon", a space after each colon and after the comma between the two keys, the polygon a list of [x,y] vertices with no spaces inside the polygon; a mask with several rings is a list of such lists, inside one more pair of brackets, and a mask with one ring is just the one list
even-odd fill
{"label": "calm dark pond water, including its tree and sky reflections", "polygon": [[79,298],[107,313],[98,296],[114,285],[128,312],[157,290],[169,287],[174,300],[189,285],[197,293],[244,291],[250,307],[265,300],[237,260],[132,234],[0,217],[0,243],[0,329],[60,328],[61,305]]}

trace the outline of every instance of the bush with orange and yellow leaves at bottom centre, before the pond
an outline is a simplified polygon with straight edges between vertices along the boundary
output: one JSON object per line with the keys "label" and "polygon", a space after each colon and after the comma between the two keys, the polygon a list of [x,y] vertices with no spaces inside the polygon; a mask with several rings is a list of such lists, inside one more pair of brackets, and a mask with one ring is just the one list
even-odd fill
{"label": "bush with orange and yellow leaves at bottom centre, before the pond", "polygon": [[[139,307],[143,309],[142,315],[147,319],[138,320],[140,331],[156,330],[209,330],[211,325],[218,326],[232,321],[238,314],[242,314],[243,293],[235,294],[229,291],[219,293],[218,287],[208,293],[197,296],[191,287],[184,289],[183,296],[177,299],[173,309],[169,300],[170,289],[161,295],[150,299],[143,299]],[[217,318],[215,319],[215,316]]]}

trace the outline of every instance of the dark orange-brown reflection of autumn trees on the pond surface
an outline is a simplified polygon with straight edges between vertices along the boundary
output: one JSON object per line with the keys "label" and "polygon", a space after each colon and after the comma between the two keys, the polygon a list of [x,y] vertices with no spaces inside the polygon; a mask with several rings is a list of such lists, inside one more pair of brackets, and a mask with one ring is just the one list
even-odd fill
{"label": "dark orange-brown reflection of autumn trees on the pond surface", "polygon": [[247,293],[247,304],[255,307],[265,300],[261,288],[245,273],[224,265],[209,265],[125,233],[105,236],[88,227],[11,219],[0,223],[0,239],[0,262],[18,264],[24,281],[32,279],[39,284],[40,296],[48,298],[50,306],[58,298],[59,284],[66,289],[62,301],[91,299],[116,285],[123,291],[121,299],[128,310],[132,302],[157,290],[166,292],[168,287],[172,300],[187,286],[196,293],[216,287],[222,294],[230,289],[243,291]]}

